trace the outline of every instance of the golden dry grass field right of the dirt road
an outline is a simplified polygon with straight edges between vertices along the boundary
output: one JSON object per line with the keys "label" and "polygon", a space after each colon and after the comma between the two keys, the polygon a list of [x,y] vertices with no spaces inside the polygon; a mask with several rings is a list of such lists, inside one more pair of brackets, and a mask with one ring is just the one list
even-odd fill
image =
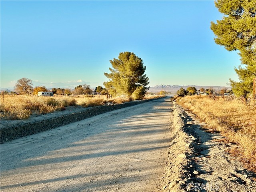
{"label": "golden dry grass field right of the dirt road", "polygon": [[176,100],[191,110],[211,128],[220,131],[230,142],[240,147],[243,158],[256,162],[256,106],[241,100],[213,100],[209,97],[186,96]]}

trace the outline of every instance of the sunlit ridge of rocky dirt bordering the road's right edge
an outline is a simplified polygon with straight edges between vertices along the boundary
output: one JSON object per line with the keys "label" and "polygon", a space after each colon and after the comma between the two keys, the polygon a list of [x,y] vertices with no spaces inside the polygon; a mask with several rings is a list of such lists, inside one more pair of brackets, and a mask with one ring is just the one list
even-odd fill
{"label": "sunlit ridge of rocky dirt bordering the road's right edge", "polygon": [[168,161],[166,162],[166,185],[163,186],[164,192],[183,192],[184,185],[187,180],[185,167],[189,165],[187,158],[192,151],[186,146],[189,141],[188,135],[183,131],[185,126],[180,114],[181,108],[172,102],[171,116],[171,140],[168,150]]}

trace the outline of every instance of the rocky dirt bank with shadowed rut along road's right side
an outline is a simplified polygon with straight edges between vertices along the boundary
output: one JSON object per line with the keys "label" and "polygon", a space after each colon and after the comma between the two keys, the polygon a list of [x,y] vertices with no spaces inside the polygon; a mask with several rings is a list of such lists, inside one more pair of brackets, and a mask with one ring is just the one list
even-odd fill
{"label": "rocky dirt bank with shadowed rut along road's right side", "polygon": [[172,114],[164,192],[256,191],[256,175],[228,154],[232,143],[221,142],[223,136],[175,102]]}

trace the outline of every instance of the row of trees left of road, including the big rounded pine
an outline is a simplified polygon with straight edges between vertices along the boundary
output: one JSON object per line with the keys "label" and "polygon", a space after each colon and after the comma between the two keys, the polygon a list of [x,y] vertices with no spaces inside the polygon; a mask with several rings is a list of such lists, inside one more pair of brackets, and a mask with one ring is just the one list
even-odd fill
{"label": "row of trees left of road, including the big rounded pine", "polygon": [[[142,58],[139,58],[133,52],[121,52],[118,59],[114,58],[110,60],[112,68],[109,68],[110,73],[104,73],[109,79],[108,82],[104,82],[102,86],[97,86],[94,92],[106,95],[111,94],[112,96],[125,95],[132,99],[140,100],[144,97],[149,87],[148,77],[146,76]],[[20,94],[34,94],[38,92],[48,91],[45,86],[32,87],[32,80],[28,78],[21,78],[16,82],[15,90]],[[58,95],[81,95],[81,94],[92,94],[93,90],[90,85],[82,84],[74,88],[74,90],[68,88],[52,88],[53,94]]]}

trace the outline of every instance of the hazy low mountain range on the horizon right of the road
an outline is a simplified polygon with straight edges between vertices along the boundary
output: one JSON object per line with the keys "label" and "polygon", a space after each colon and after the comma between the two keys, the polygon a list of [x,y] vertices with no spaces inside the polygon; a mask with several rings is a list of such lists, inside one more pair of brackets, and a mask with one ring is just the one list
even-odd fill
{"label": "hazy low mountain range on the horizon right of the road", "polygon": [[152,93],[156,93],[156,92],[160,92],[161,90],[167,91],[167,92],[176,92],[178,91],[180,88],[184,88],[187,89],[188,87],[195,87],[197,90],[200,90],[200,88],[204,88],[204,89],[214,89],[215,91],[220,91],[224,88],[226,88],[227,90],[230,90],[231,87],[226,87],[226,86],[199,86],[199,85],[157,85],[154,87],[150,87],[148,92],[152,92]]}

